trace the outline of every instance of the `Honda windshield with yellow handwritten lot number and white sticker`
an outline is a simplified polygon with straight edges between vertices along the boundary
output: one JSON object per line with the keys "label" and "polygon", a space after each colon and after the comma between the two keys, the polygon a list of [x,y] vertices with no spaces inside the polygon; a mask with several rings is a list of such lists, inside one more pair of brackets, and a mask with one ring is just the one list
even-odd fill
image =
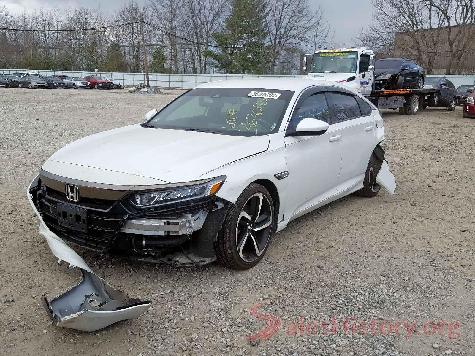
{"label": "Honda windshield with yellow handwritten lot number and white sticker", "polygon": [[146,125],[234,136],[266,135],[279,129],[293,95],[293,91],[276,89],[192,89],[165,106]]}

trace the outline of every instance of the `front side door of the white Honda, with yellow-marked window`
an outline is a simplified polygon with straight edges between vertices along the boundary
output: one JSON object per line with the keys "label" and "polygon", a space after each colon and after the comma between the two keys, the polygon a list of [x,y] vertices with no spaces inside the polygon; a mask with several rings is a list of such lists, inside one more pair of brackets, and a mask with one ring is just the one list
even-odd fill
{"label": "front side door of the white Honda, with yellow-marked window", "polygon": [[[297,217],[336,195],[342,163],[341,128],[330,122],[325,87],[311,88],[301,95],[288,123],[285,137],[285,159],[289,185],[284,219]],[[295,135],[295,127],[303,118],[330,123],[321,135]],[[294,134],[292,134],[294,133]]]}

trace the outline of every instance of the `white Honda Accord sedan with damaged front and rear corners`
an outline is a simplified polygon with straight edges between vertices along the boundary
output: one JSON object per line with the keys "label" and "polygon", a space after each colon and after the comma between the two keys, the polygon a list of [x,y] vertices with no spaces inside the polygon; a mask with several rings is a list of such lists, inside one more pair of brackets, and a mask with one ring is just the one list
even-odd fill
{"label": "white Honda Accord sedan with damaged front and rear corners", "polygon": [[27,195],[48,243],[243,270],[289,221],[353,192],[394,192],[380,112],[342,84],[212,82],[146,119],[44,163]]}

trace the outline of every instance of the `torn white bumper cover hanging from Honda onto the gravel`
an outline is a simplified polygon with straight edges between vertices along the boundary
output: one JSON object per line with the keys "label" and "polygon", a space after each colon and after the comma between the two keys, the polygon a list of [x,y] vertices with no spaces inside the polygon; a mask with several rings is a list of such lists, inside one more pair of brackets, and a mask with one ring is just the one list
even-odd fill
{"label": "torn white bumper cover hanging from Honda onto the gravel", "polygon": [[92,272],[72,248],[46,228],[33,204],[29,187],[27,197],[39,219],[39,234],[45,237],[51,252],[59,259],[58,263],[69,262],[70,269],[77,267],[83,274],[83,280],[65,293],[50,301],[46,293],[41,297],[43,307],[56,326],[96,331],[120,320],[137,318],[150,308],[152,301],[129,298],[127,293],[114,289]]}

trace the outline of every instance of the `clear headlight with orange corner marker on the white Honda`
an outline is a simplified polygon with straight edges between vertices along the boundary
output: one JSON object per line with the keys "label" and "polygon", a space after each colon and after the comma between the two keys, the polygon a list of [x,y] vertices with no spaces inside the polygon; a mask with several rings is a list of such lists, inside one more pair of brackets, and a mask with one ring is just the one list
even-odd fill
{"label": "clear headlight with orange corner marker on the white Honda", "polygon": [[136,194],[130,198],[130,202],[135,206],[145,207],[212,196],[218,192],[225,179],[225,176],[221,176],[197,185],[192,185],[192,182],[190,182],[190,186],[186,187]]}

